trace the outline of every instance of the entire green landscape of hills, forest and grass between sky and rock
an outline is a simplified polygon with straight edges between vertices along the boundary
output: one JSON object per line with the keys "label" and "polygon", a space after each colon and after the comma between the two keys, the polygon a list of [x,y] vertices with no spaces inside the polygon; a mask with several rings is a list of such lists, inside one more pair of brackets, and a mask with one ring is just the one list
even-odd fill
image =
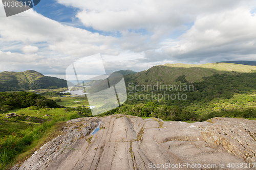
{"label": "entire green landscape of hills, forest and grass between sky and rock", "polygon": [[[124,114],[187,123],[214,117],[256,119],[256,66],[178,63],[119,73],[126,84],[126,102],[93,116],[86,96],[61,93],[68,90],[64,80],[36,71],[2,72],[0,89],[6,92],[0,92],[0,167],[26,160],[56,132],[62,133],[62,124],[79,117]],[[17,85],[6,85],[14,80]],[[17,116],[7,118],[13,112]]]}

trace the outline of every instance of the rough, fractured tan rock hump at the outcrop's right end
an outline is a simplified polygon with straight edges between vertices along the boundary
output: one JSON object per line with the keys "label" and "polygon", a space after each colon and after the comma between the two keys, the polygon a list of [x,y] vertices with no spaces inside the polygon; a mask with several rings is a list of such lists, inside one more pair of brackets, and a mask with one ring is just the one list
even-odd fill
{"label": "rough, fractured tan rock hump at the outcrop's right end", "polygon": [[211,148],[227,151],[246,162],[256,162],[256,121],[216,117],[214,125],[203,131],[203,137]]}

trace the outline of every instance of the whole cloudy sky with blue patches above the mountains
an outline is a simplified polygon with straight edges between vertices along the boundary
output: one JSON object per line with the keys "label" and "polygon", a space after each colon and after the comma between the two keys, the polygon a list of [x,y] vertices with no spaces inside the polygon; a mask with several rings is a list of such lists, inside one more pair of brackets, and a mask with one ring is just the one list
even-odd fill
{"label": "whole cloudy sky with blue patches above the mountains", "polygon": [[9,17],[0,4],[0,72],[65,79],[95,54],[107,71],[256,61],[255,14],[255,0],[41,0]]}

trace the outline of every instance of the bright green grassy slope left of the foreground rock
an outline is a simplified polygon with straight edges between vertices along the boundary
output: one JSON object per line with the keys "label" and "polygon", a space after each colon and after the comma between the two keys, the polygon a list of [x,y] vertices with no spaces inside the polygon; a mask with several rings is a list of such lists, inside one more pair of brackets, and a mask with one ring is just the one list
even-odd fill
{"label": "bright green grassy slope left of the foreground rock", "polygon": [[57,137],[66,121],[80,117],[76,111],[66,111],[31,106],[10,111],[22,116],[5,118],[6,113],[0,114],[0,169],[22,163],[43,144]]}

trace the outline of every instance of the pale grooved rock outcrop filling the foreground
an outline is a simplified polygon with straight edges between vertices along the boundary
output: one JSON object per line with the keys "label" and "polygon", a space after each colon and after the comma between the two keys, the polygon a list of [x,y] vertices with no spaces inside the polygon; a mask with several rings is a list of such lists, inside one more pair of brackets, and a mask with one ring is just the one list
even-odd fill
{"label": "pale grooved rock outcrop filling the foreground", "polygon": [[188,124],[110,115],[73,119],[64,129],[12,169],[254,169],[256,162],[254,120]]}

